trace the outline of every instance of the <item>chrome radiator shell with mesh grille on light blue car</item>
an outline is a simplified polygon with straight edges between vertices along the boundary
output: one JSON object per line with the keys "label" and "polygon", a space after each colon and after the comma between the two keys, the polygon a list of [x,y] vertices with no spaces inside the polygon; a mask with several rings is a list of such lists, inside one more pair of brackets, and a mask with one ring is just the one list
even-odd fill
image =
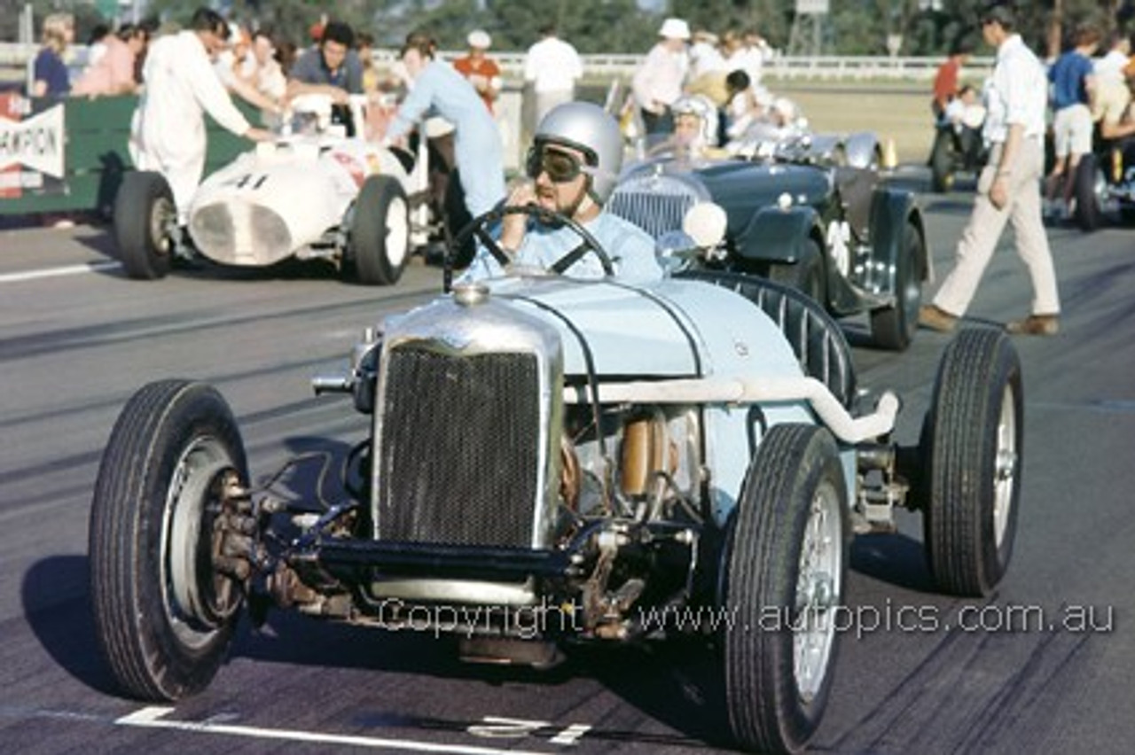
{"label": "chrome radiator shell with mesh grille on light blue car", "polygon": [[375,537],[549,546],[563,417],[558,339],[552,325],[491,299],[437,302],[387,330],[373,430]]}

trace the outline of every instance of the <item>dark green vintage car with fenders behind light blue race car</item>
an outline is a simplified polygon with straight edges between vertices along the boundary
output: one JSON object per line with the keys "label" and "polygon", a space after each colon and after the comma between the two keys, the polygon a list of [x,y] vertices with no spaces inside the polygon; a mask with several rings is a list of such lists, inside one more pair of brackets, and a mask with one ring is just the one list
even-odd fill
{"label": "dark green vintage car with fenders behind light blue race car", "polygon": [[888,186],[877,161],[854,158],[863,147],[817,138],[759,160],[665,154],[628,166],[611,209],[662,240],[713,202],[724,240],[690,264],[788,283],[836,317],[869,313],[873,342],[902,350],[931,271],[926,230],[915,196]]}

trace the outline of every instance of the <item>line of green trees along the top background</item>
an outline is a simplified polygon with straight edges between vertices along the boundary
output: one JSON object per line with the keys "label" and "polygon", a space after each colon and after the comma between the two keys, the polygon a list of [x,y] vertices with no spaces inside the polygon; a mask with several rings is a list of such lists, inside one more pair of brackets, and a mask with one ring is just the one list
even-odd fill
{"label": "line of green trees along the top background", "polygon": [[[185,23],[196,7],[184,0],[141,2],[146,17],[170,24]],[[16,19],[25,5],[0,0],[0,40],[16,39]],[[100,12],[108,7],[104,2],[32,0],[31,5],[37,19],[57,10],[74,12],[81,43],[95,24],[115,20]],[[297,44],[306,43],[312,24],[329,14],[372,34],[379,46],[397,46],[407,32],[426,28],[448,50],[462,49],[473,28],[491,34],[495,50],[526,50],[539,39],[539,29],[552,24],[583,53],[644,53],[670,15],[718,34],[728,28],[755,29],[773,48],[785,50],[797,20],[796,0],[222,0],[211,5],[235,20],[270,28]],[[942,56],[960,40],[982,52],[977,20],[983,5],[984,0],[831,0],[831,12],[818,25],[821,52]],[[129,20],[131,6],[117,7]],[[1082,22],[1103,31],[1129,32],[1135,25],[1135,0],[1040,0],[1018,7],[1026,11],[1022,14],[1026,42],[1050,56]]]}

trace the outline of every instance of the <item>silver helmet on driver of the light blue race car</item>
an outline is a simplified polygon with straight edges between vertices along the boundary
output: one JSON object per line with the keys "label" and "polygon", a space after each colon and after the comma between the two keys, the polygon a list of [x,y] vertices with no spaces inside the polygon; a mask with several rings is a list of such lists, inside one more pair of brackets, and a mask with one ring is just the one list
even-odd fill
{"label": "silver helmet on driver of the light blue race car", "polygon": [[606,204],[623,166],[623,135],[606,110],[590,102],[565,102],[548,111],[536,127],[532,150],[562,144],[579,150],[587,161],[582,172],[590,177],[588,194]]}

